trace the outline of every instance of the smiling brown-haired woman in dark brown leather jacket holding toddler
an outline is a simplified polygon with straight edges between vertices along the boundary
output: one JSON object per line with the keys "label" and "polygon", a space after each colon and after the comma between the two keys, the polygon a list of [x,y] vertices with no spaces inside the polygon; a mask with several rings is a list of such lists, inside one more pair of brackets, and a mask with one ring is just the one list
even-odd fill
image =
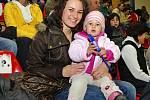
{"label": "smiling brown-haired woman in dark brown leather jacket holding toddler", "polygon": [[[68,56],[69,45],[73,37],[72,29],[78,28],[87,11],[84,4],[86,4],[84,0],[59,0],[54,12],[48,18],[46,30],[42,28],[43,31],[37,33],[31,44],[30,57],[27,60],[28,73],[24,75],[23,81],[15,81],[19,86],[12,85],[11,89],[1,86],[4,95],[11,94],[13,90],[17,91],[16,88],[21,86],[21,90],[26,93],[24,95],[32,97],[32,100],[34,100],[33,96],[38,100],[53,100],[54,98],[67,100],[69,77],[81,73],[85,68],[82,63],[71,65]],[[98,67],[93,72],[93,77],[100,77],[100,73],[105,70],[107,69]],[[135,88],[131,84],[123,81],[115,83],[120,86],[129,100],[135,100]],[[4,89],[12,91],[5,93]],[[9,97],[9,94],[5,98]],[[23,100],[23,98],[18,100]],[[88,86],[85,100],[105,100],[105,97],[98,87]]]}

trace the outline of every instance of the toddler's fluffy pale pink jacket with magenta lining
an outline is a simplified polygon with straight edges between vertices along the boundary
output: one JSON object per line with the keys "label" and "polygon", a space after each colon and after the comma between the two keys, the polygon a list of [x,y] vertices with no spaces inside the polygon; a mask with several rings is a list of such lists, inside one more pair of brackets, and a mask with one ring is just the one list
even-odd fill
{"label": "toddler's fluffy pale pink jacket with magenta lining", "polygon": [[[89,41],[85,32],[78,32],[74,36],[75,40],[72,41],[69,48],[69,56],[74,63],[86,62],[86,66],[89,65],[89,61],[92,55],[87,56],[87,49],[89,47]],[[107,38],[106,33],[100,33],[97,40],[99,47],[104,47],[107,51],[107,59],[109,62],[115,63],[120,58],[120,50],[113,41]],[[95,57],[94,68],[102,62],[99,56]],[[86,70],[86,69],[85,69]]]}

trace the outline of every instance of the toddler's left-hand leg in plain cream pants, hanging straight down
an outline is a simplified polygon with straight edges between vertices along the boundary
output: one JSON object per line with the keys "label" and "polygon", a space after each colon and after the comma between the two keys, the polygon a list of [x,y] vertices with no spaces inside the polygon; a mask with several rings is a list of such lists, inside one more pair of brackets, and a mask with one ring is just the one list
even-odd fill
{"label": "toddler's left-hand leg in plain cream pants, hanging straight down", "polygon": [[87,90],[90,76],[88,74],[76,75],[72,78],[68,100],[83,100]]}

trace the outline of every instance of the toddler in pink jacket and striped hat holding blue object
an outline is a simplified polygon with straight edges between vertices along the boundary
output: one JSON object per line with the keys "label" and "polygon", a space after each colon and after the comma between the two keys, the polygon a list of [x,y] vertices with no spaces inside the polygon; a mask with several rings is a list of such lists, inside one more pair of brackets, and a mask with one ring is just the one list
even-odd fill
{"label": "toddler in pink jacket and striped hat holding blue object", "polygon": [[[103,14],[99,11],[91,11],[84,20],[83,31],[75,34],[75,40],[70,44],[69,56],[74,63],[85,62],[86,68],[82,73],[70,78],[71,87],[68,100],[83,100],[88,84],[100,87],[107,100],[126,100],[122,96],[122,91],[111,80],[108,71],[97,78],[92,76],[92,72],[98,66],[109,68],[108,63],[115,63],[120,57],[119,47],[107,38],[104,29],[105,18]],[[93,36],[101,51],[96,51],[96,46],[90,44],[89,34]],[[108,61],[107,64],[103,62],[101,55]]]}

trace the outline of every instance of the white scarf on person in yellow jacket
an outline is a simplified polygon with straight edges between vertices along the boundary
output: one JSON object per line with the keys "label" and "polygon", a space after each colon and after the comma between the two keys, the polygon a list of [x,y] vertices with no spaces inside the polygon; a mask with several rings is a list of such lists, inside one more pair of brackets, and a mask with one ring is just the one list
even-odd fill
{"label": "white scarf on person in yellow jacket", "polygon": [[14,2],[15,4],[17,4],[17,6],[20,8],[20,10],[22,12],[22,15],[23,15],[23,18],[24,18],[24,21],[26,23],[30,23],[32,21],[32,15],[31,15],[31,12],[30,12],[30,6],[31,6],[31,4],[29,4],[29,5],[27,5],[25,7],[25,6],[23,6],[18,1],[12,1],[12,2]]}

